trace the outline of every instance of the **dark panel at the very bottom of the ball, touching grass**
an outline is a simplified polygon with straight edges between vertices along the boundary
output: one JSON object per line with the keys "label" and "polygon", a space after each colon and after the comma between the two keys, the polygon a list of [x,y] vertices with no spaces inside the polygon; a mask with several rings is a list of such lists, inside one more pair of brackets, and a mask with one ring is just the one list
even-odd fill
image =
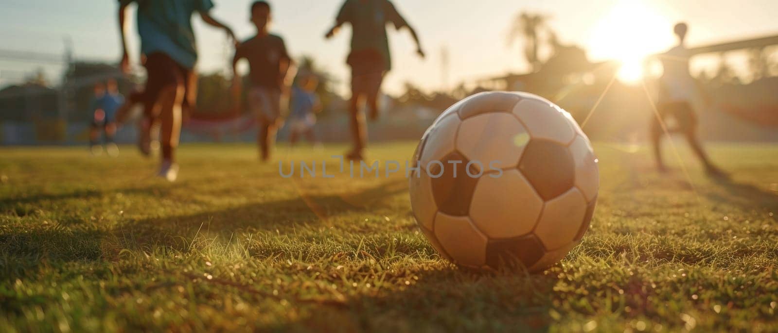
{"label": "dark panel at the very bottom of the ball, touching grass", "polygon": [[545,249],[534,234],[521,237],[489,240],[486,245],[486,264],[493,269],[515,268],[520,262],[531,267],[543,257]]}

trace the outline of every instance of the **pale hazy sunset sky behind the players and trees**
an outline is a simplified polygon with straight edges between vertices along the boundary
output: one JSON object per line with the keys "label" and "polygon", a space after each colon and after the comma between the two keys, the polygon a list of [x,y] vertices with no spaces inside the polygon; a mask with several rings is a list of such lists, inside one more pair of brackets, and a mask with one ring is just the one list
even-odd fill
{"label": "pale hazy sunset sky behind the players and trees", "polygon": [[[248,21],[251,0],[213,0],[212,16],[233,27],[241,40],[254,33]],[[345,91],[349,68],[350,29],[332,40],[324,33],[334,23],[343,0],[275,0],[272,33],[286,40],[293,56],[313,56],[338,78]],[[548,26],[562,43],[585,47],[591,61],[635,60],[672,47],[672,25],[689,23],[691,46],[724,40],[778,34],[775,0],[393,0],[415,27],[426,59],[415,54],[405,30],[391,28],[394,69],[384,88],[401,93],[405,82],[431,91],[459,82],[527,69],[520,42],[507,43],[513,19],[528,11],[549,16]],[[61,64],[9,61],[3,51],[63,54],[70,40],[75,57],[116,62],[120,54],[117,2],[112,0],[3,0],[0,4],[0,86],[18,82],[42,68],[50,81],[61,75]],[[137,64],[139,50],[135,13],[130,12],[130,47]],[[195,18],[199,71],[227,67],[233,50],[222,31]],[[441,58],[449,54],[448,79],[443,82]]]}

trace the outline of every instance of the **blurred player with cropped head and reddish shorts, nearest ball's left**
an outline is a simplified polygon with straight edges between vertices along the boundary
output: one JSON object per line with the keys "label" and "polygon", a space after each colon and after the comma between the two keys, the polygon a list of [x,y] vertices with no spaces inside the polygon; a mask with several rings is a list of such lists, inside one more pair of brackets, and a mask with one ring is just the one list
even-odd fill
{"label": "blurred player with cropped head and reddish shorts, nearest ball's left", "polygon": [[366,146],[367,132],[365,115],[359,111],[359,102],[366,99],[367,108],[370,109],[370,119],[378,118],[378,93],[384,75],[391,70],[387,23],[394,24],[396,29],[407,27],[415,40],[416,53],[424,57],[424,51],[415,30],[405,22],[388,0],[345,0],[335,19],[335,26],[330,29],[326,37],[335,36],[343,23],[350,23],[352,27],[351,53],[346,63],[351,66],[352,97],[349,113],[354,148],[346,154],[346,157],[361,160]]}

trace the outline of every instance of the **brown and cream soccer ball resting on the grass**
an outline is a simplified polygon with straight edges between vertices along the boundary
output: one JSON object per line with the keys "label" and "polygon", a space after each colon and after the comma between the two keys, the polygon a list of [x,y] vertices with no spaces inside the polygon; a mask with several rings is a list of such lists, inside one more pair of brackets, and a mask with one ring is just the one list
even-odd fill
{"label": "brown and cream soccer ball resting on the grass", "polygon": [[558,262],[586,233],[598,160],[569,113],[526,92],[482,92],[426,130],[411,205],[436,250],[468,268]]}

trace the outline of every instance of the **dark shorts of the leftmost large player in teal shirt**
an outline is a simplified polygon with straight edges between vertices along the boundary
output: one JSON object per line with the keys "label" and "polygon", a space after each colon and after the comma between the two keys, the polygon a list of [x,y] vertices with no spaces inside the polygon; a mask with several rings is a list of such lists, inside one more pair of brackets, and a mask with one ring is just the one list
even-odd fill
{"label": "dark shorts of the leftmost large player in teal shirt", "polygon": [[184,87],[184,102],[182,109],[188,112],[195,107],[197,101],[197,72],[184,68],[173,58],[161,52],[148,54],[145,64],[148,78],[143,91],[143,106],[145,112],[151,112],[152,106],[159,99],[159,93],[163,88],[171,85]]}

